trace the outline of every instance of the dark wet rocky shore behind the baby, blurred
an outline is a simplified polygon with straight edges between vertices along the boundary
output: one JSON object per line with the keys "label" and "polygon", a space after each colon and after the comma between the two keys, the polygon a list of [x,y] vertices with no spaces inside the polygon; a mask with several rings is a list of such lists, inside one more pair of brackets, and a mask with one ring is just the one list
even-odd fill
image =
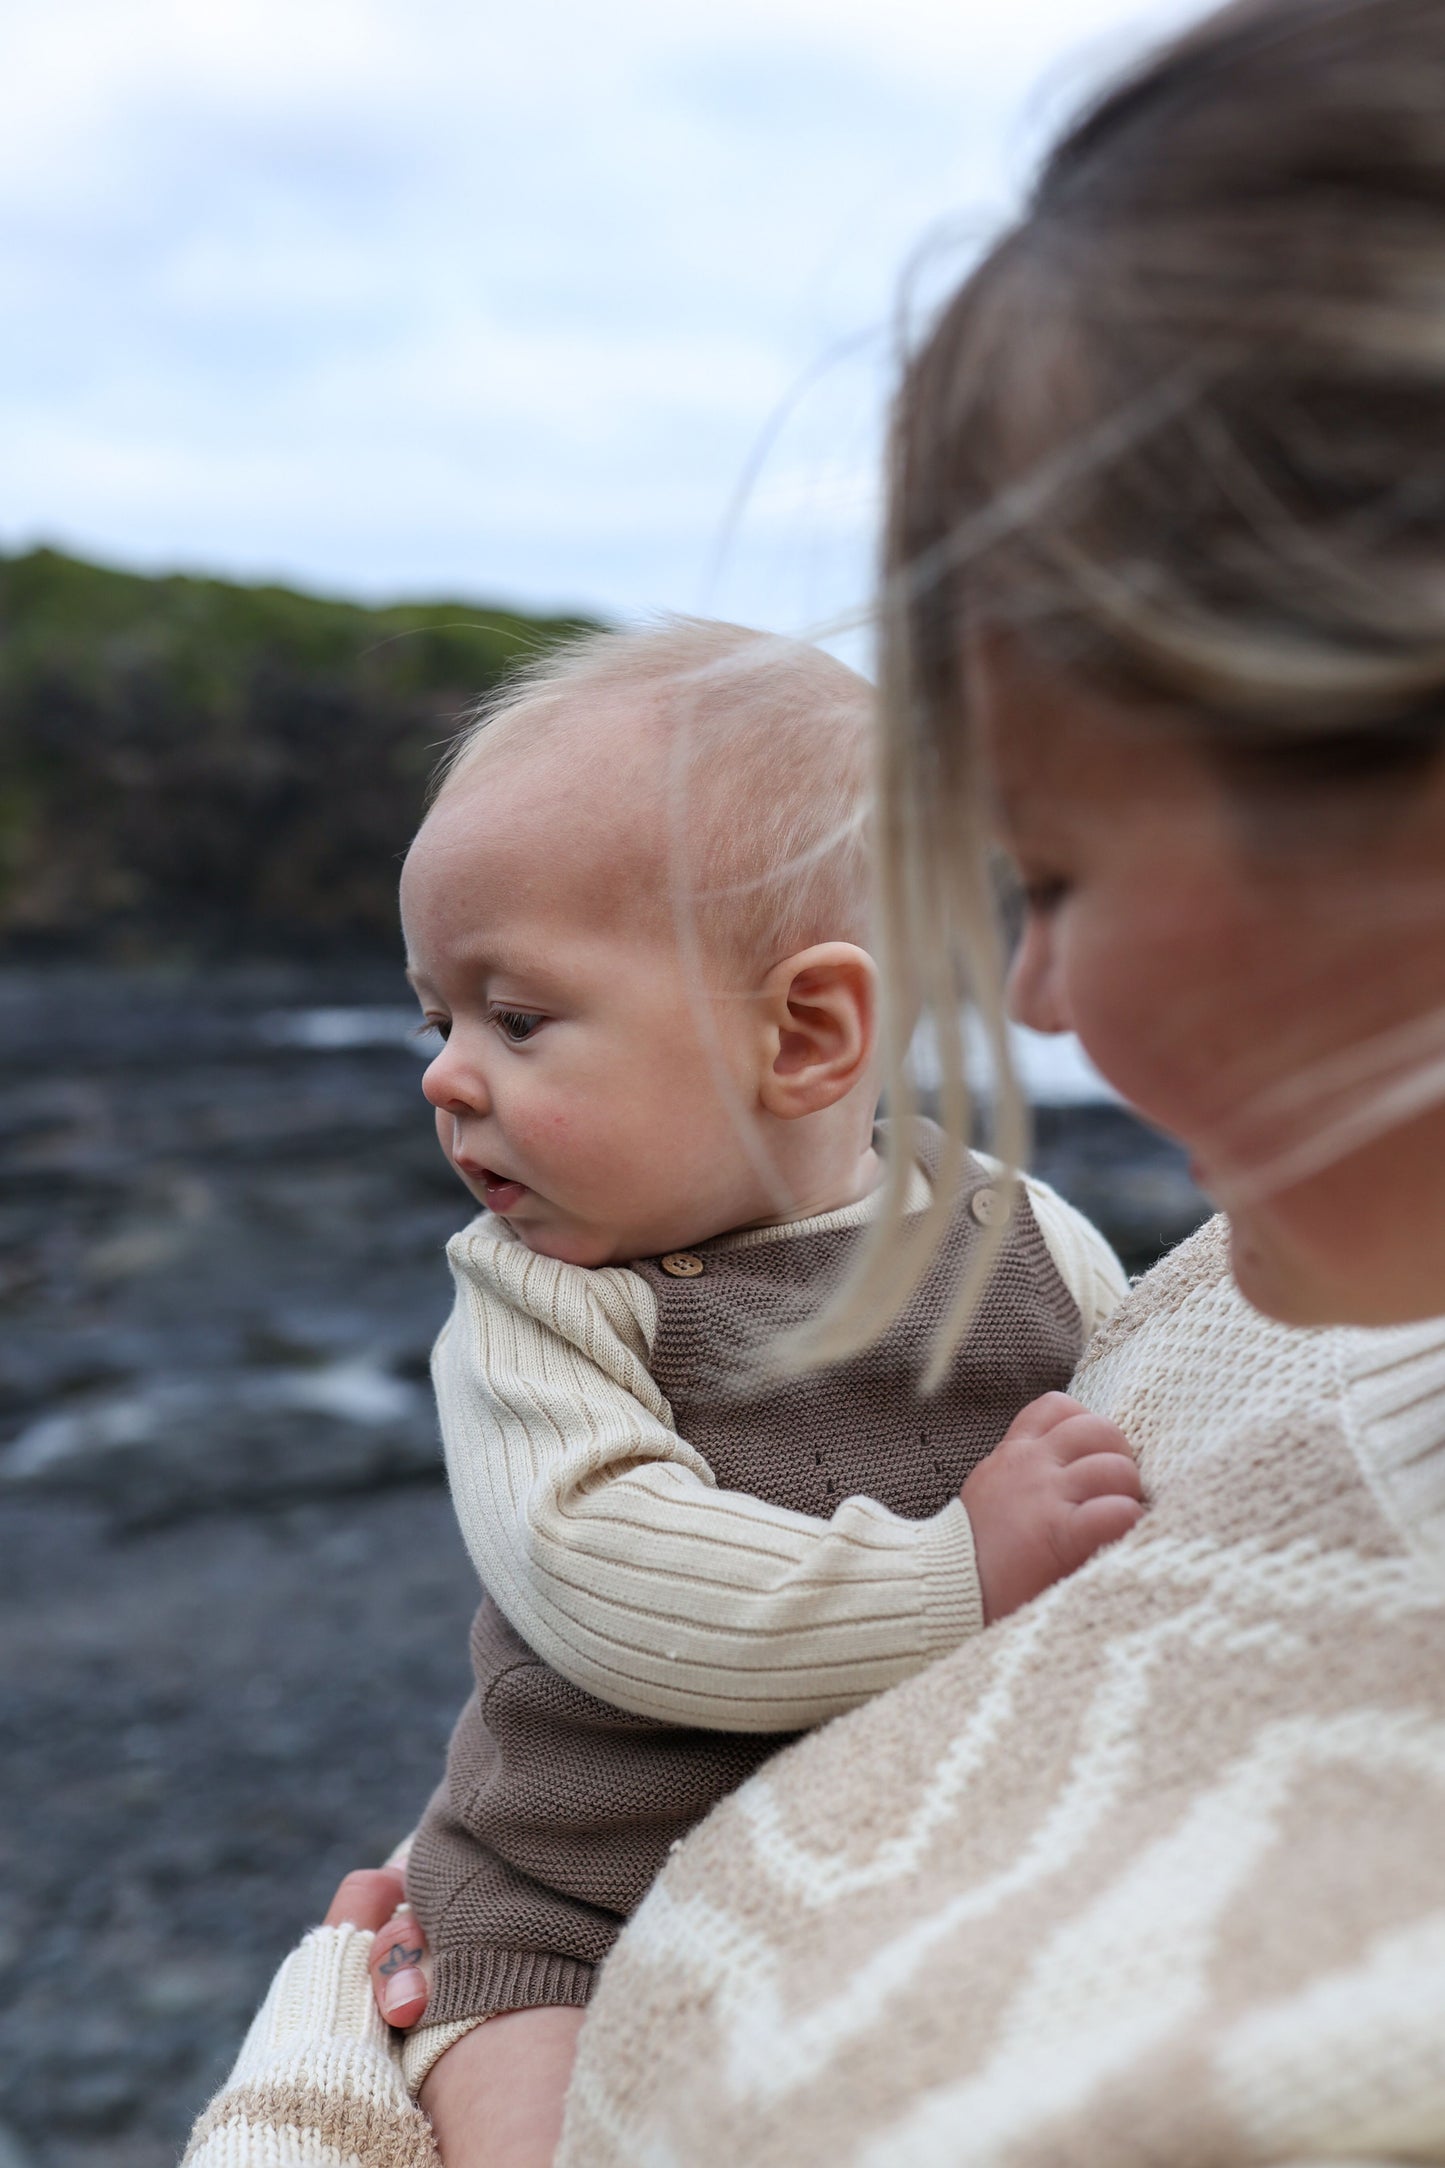
{"label": "dark wet rocky shore behind the baby, blurred", "polygon": [[[167,2168],[435,1782],[474,1578],[427,1351],[470,1214],[399,973],[0,973],[0,2168]],[[1133,1268],[1116,1108],[1036,1164]]]}

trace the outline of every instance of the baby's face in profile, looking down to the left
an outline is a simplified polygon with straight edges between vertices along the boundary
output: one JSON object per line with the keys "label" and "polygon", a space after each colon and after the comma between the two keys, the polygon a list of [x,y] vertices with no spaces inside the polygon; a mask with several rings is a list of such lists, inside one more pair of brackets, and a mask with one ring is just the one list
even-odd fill
{"label": "baby's face in profile, looking down to the left", "polygon": [[776,1212],[719,1062],[756,1104],[763,1036],[739,991],[698,1019],[667,911],[656,809],[626,761],[483,754],[405,863],[409,978],[446,1045],[422,1091],[442,1151],[529,1249],[613,1264]]}

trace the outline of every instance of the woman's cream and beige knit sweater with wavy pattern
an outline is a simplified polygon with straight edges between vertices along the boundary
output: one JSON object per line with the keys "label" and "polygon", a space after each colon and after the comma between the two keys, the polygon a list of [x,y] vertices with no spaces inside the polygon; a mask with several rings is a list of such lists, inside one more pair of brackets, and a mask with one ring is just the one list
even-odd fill
{"label": "woman's cream and beige knit sweater with wavy pattern", "polygon": [[[1148,1520],[687,1841],[559,2168],[1445,2161],[1445,1325],[1270,1325],[1215,1225],[1077,1390]],[[435,2168],[366,1945],[292,1953],[195,2168]]]}

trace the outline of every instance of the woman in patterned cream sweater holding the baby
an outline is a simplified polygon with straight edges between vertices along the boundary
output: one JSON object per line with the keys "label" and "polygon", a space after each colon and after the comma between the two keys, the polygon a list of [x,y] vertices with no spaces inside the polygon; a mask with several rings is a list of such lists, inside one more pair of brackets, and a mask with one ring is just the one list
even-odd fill
{"label": "woman in patterned cream sweater holding the baby", "polygon": [[990,1008],[997,839],[1014,1012],[1228,1225],[1075,1388],[1146,1524],[682,1847],[568,2168],[1445,2159],[1443,212],[1439,0],[1244,0],[1070,130],[908,371],[895,1012]]}

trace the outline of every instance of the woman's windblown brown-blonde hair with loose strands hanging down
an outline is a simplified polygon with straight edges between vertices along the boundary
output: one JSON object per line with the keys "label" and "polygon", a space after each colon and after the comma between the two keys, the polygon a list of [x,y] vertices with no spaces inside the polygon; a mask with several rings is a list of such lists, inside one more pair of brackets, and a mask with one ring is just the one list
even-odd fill
{"label": "woman's windblown brown-blonde hair with loose strands hanging down", "polygon": [[[895,1104],[1001,1015],[964,633],[1196,731],[1248,793],[1445,744],[1445,4],[1237,0],[1094,102],[906,369],[882,596],[880,869]],[[810,1353],[869,1338],[949,1212],[901,1175]],[[981,1270],[986,1270],[984,1260]],[[977,1292],[960,1290],[934,1375]]]}

